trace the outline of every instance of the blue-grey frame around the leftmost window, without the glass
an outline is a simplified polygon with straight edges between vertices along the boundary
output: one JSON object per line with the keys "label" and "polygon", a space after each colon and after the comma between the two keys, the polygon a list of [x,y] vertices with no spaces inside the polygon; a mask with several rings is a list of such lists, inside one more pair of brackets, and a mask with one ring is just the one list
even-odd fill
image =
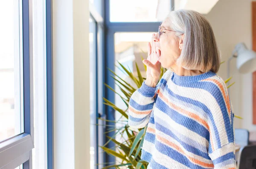
{"label": "blue-grey frame around the leftmost window, without the glass", "polygon": [[20,71],[23,79],[21,80],[23,86],[23,97],[20,98],[23,105],[23,132],[0,142],[0,168],[16,168],[23,165],[23,169],[32,168],[32,149],[33,145],[33,111],[32,107],[32,1],[20,0],[20,25],[22,25],[22,67]]}

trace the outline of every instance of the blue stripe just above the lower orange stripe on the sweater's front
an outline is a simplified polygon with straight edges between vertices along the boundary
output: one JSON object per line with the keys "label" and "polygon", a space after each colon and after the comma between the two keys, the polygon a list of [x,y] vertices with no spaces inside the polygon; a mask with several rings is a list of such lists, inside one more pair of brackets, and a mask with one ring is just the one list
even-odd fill
{"label": "blue stripe just above the lower orange stripe on the sweater's front", "polygon": [[173,139],[178,141],[181,144],[181,146],[183,146],[183,148],[186,149],[186,151],[192,152],[195,155],[198,155],[198,156],[201,156],[201,157],[206,158],[208,160],[211,160],[208,153],[202,152],[201,150],[197,149],[196,147],[193,147],[193,146],[191,146],[189,144],[186,144],[185,142],[181,141],[172,131],[170,131],[166,127],[163,127],[161,124],[156,123],[156,128],[157,128],[157,130],[165,133],[166,135],[169,135],[170,137],[172,137]]}

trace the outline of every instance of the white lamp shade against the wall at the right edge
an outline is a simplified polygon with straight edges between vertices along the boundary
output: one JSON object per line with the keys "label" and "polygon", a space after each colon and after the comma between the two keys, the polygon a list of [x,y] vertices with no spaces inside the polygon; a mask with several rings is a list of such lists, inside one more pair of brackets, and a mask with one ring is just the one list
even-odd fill
{"label": "white lamp shade against the wall at the right edge", "polygon": [[240,73],[251,73],[256,71],[256,52],[248,50],[244,43],[235,47],[237,53],[236,67]]}

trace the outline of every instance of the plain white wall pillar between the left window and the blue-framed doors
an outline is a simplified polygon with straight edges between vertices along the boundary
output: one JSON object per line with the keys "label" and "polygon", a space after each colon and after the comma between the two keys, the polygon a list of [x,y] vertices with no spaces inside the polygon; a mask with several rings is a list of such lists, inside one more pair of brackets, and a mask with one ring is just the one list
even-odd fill
{"label": "plain white wall pillar between the left window and the blue-framed doors", "polygon": [[52,1],[54,168],[90,168],[89,0]]}

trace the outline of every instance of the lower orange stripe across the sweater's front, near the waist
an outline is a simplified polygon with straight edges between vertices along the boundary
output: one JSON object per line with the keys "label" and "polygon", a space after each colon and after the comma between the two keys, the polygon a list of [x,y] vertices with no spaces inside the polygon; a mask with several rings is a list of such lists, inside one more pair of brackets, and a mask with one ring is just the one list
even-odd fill
{"label": "lower orange stripe across the sweater's front, near the waist", "polygon": [[175,144],[175,143],[173,143],[173,142],[171,142],[171,141],[169,141],[169,140],[167,140],[163,137],[160,137],[159,135],[157,135],[157,139],[160,140],[160,141],[163,141],[165,144],[167,144],[167,145],[171,146],[172,148],[176,149],[178,152],[185,155],[193,163],[199,164],[199,165],[204,166],[204,167],[211,167],[211,168],[214,167],[214,165],[212,163],[205,163],[203,161],[199,161],[195,158],[190,157],[179,146],[177,146],[177,144]]}

